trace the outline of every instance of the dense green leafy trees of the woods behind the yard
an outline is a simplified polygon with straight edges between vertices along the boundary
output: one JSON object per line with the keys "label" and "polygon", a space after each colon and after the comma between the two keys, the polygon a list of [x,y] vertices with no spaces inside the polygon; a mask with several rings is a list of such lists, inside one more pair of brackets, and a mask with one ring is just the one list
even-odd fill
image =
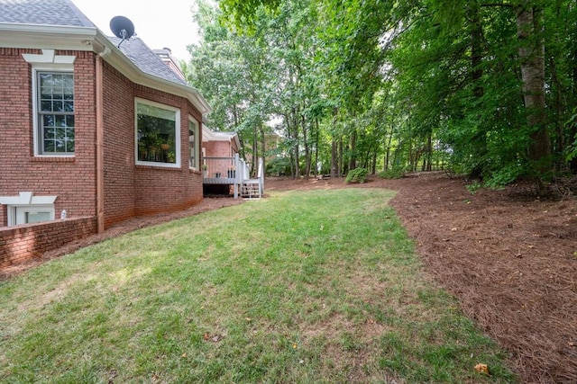
{"label": "dense green leafy trees of the woods behind the yard", "polygon": [[[189,82],[270,173],[577,171],[577,1],[197,0]],[[267,137],[281,138],[270,146]]]}

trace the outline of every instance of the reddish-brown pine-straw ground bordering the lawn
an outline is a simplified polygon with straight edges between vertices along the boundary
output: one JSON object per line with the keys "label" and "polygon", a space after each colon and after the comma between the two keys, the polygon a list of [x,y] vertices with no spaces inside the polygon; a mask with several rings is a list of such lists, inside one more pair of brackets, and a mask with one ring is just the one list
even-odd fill
{"label": "reddish-brown pine-straw ground bordering the lawn", "polygon": [[[267,179],[265,190],[388,188],[428,272],[464,312],[509,352],[527,383],[577,383],[577,181],[554,184],[555,199],[527,185],[466,188],[462,178],[414,174],[400,180]],[[266,197],[266,193],[265,193]],[[133,219],[64,246],[42,260],[0,271],[0,279],[136,228],[242,203],[205,199],[176,214]]]}

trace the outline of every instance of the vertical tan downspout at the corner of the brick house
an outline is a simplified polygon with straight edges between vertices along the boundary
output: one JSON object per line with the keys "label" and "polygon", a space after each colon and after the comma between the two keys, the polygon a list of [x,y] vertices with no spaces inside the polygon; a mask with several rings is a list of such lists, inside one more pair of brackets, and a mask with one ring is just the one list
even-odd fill
{"label": "vertical tan downspout at the corner of the brick house", "polygon": [[104,116],[103,116],[103,76],[102,56],[107,52],[96,55],[96,230],[105,231],[105,150],[104,150]]}

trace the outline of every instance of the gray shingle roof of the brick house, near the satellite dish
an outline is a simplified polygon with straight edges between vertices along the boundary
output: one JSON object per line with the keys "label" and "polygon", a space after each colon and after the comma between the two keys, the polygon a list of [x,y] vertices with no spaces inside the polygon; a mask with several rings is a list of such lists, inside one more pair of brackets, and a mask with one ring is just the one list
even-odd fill
{"label": "gray shingle roof of the brick house, near the satellite dish", "polygon": [[[0,22],[96,28],[70,0],[0,0]],[[120,39],[107,37],[115,46]],[[124,40],[119,49],[142,72],[179,85],[188,83],[177,76],[141,39]]]}

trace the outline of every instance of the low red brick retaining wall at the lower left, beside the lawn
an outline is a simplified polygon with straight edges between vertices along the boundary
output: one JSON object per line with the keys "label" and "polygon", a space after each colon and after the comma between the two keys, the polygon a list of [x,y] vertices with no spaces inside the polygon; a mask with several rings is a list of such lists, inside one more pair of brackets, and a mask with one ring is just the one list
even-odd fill
{"label": "low red brick retaining wall at the lower left, beside the lawn", "polygon": [[96,233],[96,218],[65,219],[0,228],[0,269]]}

